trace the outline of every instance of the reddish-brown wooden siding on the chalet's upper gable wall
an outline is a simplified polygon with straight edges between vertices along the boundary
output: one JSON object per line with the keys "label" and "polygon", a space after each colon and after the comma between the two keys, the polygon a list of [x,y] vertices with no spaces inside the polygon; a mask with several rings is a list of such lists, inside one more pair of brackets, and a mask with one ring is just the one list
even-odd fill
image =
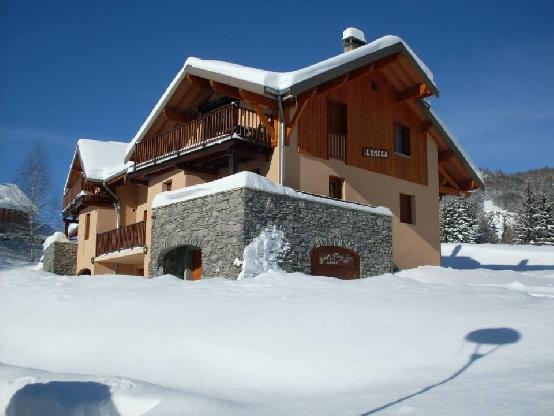
{"label": "reddish-brown wooden siding on the chalet's upper gable wall", "polygon": [[[372,89],[372,81],[377,83],[377,91]],[[329,158],[327,100],[331,100],[348,107],[347,164],[427,185],[427,140],[422,120],[406,103],[397,103],[396,96],[397,91],[381,72],[316,95],[298,120],[298,151]],[[394,152],[395,123],[410,128],[409,158]],[[364,147],[388,150],[389,157],[365,157]]]}

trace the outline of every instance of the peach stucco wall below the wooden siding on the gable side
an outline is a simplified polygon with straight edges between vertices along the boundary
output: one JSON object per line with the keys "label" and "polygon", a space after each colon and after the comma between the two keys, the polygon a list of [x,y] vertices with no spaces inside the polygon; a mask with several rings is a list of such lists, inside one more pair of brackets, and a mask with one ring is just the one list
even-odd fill
{"label": "peach stucco wall below the wooden siding on the gable side", "polygon": [[[386,176],[346,165],[336,159],[320,159],[297,151],[297,134],[285,149],[285,184],[304,192],[328,195],[329,176],[344,178],[344,198],[382,205],[393,213],[393,257],[400,268],[440,264],[438,152],[427,137],[428,184]],[[277,152],[277,149],[276,149]],[[415,224],[399,220],[400,194],[415,197]]]}

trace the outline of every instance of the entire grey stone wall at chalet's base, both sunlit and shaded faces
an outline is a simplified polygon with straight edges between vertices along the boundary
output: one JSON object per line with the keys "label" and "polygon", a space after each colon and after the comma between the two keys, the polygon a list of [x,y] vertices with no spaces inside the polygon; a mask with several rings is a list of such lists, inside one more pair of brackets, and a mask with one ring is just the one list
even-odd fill
{"label": "entire grey stone wall at chalet's base, both sunlit and shaded faces", "polygon": [[360,256],[362,277],[392,269],[392,217],[249,188],[155,208],[150,275],[163,273],[165,253],[180,245],[202,250],[202,278],[236,278],[243,250],[264,228],[276,226],[290,243],[280,265],[311,273],[310,252],[339,246]]}

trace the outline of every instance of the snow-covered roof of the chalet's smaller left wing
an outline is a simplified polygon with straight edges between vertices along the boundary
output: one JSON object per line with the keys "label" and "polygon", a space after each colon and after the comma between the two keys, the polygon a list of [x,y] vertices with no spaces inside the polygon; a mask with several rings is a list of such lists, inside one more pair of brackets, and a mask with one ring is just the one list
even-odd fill
{"label": "snow-covered roof of the chalet's smaller left wing", "polygon": [[[73,161],[79,157],[81,169],[87,180],[103,182],[126,172],[133,165],[132,162],[123,161],[127,145],[125,142],[79,139]],[[68,181],[69,173],[66,187]]]}

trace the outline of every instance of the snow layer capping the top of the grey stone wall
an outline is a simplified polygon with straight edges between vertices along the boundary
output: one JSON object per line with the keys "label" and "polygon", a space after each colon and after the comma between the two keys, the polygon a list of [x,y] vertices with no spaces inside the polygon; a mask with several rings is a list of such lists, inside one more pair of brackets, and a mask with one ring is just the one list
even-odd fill
{"label": "snow layer capping the top of the grey stone wall", "polygon": [[187,188],[177,189],[176,191],[161,192],[154,197],[154,201],[152,201],[152,208],[159,208],[165,205],[175,204],[177,202],[188,201],[207,195],[217,194],[220,192],[231,191],[233,189],[240,188],[248,188],[257,191],[270,192],[272,194],[286,195],[292,198],[299,198],[327,205],[335,205],[357,211],[371,212],[380,215],[392,215],[390,209],[385,207],[363,205],[355,202],[346,202],[337,199],[307,194],[304,192],[298,192],[292,188],[277,185],[266,177],[252,172],[239,172],[212,182],[189,186]]}

